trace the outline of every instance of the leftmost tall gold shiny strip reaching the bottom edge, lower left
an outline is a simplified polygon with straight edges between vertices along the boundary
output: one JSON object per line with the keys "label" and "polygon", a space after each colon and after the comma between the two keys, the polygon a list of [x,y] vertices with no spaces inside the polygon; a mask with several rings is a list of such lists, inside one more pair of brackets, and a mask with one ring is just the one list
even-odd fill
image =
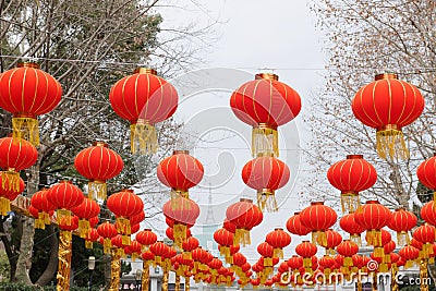
{"label": "leftmost tall gold shiny strip reaching the bottom edge, lower left", "polygon": [[56,276],[58,280],[58,283],[56,286],[57,291],[70,290],[71,253],[72,253],[71,231],[62,230],[59,234],[59,251],[58,251],[59,264],[58,264],[58,275]]}

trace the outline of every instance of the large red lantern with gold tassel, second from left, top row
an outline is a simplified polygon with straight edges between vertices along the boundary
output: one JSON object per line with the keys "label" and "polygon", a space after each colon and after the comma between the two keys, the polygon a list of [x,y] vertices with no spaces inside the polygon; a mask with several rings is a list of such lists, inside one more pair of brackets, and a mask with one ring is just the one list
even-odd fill
{"label": "large red lantern with gold tassel, second from left, top row", "polygon": [[131,125],[132,153],[156,153],[155,124],[169,119],[178,108],[175,88],[150,69],[136,69],[118,81],[109,93],[113,111]]}

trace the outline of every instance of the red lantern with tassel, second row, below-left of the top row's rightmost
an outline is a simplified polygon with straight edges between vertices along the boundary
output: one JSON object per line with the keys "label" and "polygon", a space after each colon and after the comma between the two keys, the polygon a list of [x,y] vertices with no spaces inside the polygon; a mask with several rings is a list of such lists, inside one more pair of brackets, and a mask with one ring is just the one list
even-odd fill
{"label": "red lantern with tassel, second row, below-left of the top row's rightmost", "polygon": [[334,187],[341,191],[342,211],[354,213],[360,206],[359,192],[375,184],[377,172],[362,155],[348,155],[347,159],[328,169],[327,179]]}

